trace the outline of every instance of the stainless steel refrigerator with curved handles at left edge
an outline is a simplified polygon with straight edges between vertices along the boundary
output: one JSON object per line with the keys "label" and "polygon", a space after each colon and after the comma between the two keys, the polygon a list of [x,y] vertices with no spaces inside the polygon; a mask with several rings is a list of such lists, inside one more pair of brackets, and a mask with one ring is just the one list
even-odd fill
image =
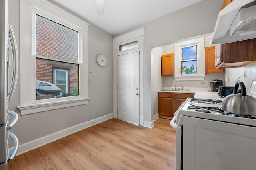
{"label": "stainless steel refrigerator with curved handles at left edge", "polygon": [[[17,137],[9,131],[18,121],[17,113],[8,110],[18,77],[18,51],[8,22],[8,0],[0,0],[0,59],[0,170],[6,170],[6,164],[12,161],[19,147]],[[14,143],[10,154],[9,139]]]}

